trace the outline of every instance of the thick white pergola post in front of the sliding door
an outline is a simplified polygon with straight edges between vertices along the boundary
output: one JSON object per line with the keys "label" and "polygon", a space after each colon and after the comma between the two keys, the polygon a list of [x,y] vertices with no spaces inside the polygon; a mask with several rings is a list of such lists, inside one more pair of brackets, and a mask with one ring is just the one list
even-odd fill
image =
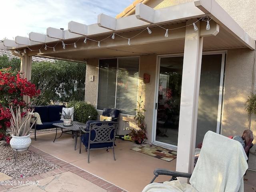
{"label": "thick white pergola post in front of the sliding door", "polygon": [[[196,20],[190,20],[186,25]],[[198,113],[198,96],[202,62],[203,38],[193,25],[186,27],[182,88],[180,100],[180,121],[178,133],[178,151],[176,171],[192,173],[194,169],[194,149],[196,143],[196,125]],[[186,180],[187,181],[187,180]]]}

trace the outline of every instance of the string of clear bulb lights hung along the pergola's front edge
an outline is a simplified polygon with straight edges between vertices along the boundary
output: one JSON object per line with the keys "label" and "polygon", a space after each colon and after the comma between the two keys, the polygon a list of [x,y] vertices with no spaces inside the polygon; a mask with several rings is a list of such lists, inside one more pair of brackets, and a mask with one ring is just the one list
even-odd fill
{"label": "string of clear bulb lights hung along the pergola's front edge", "polygon": [[[206,24],[206,30],[210,30],[210,20],[212,20],[212,18],[210,18],[208,15],[205,15],[205,16],[202,16],[202,18],[198,19],[196,22],[198,22],[198,21],[200,21],[200,20],[207,22],[207,24]],[[176,29],[183,28],[183,27],[187,27],[187,26],[190,26],[190,25],[193,25],[194,31],[197,31],[197,30],[198,30],[198,27],[196,26],[196,22],[193,22],[192,24],[188,24],[188,25],[186,25],[186,26],[181,26],[181,27],[172,28],[172,29],[166,29],[166,28],[164,28],[164,27],[162,27],[162,26],[159,26],[159,25],[156,25],[156,26],[158,26],[158,27],[163,28],[164,30],[166,30],[164,36],[167,38],[167,37],[168,37],[168,31],[169,31],[169,30],[176,30]],[[56,43],[56,45],[53,46],[53,47],[50,47],[50,46],[47,46],[46,44],[44,44],[44,45],[45,45],[44,50],[47,50],[47,47],[48,47],[48,48],[53,48],[53,51],[55,52],[55,51],[56,51],[56,50],[55,50],[55,47],[57,46],[57,44],[58,44],[59,42],[62,42],[62,48],[63,48],[63,49],[66,49],[66,45],[71,45],[71,44],[65,44],[65,43],[64,43],[64,41],[63,41],[63,40],[64,40],[64,29],[61,28],[61,30],[62,30],[62,37],[63,37],[62,40],[58,41],[58,42]],[[147,31],[148,31],[148,34],[152,34],[152,31],[150,30],[149,27],[146,27],[144,30],[147,30]],[[105,39],[107,39],[107,38],[110,38],[110,37],[114,40],[114,39],[115,39],[115,35],[117,35],[117,36],[120,36],[121,38],[127,39],[127,40],[128,40],[128,43],[127,43],[127,44],[130,46],[130,45],[131,45],[131,44],[130,44],[130,40],[131,40],[132,38],[135,38],[136,36],[138,36],[138,35],[141,34],[142,32],[144,32],[144,30],[142,30],[141,32],[139,32],[138,34],[136,34],[135,36],[130,37],[130,38],[127,38],[127,37],[121,36],[121,35],[119,35],[119,34],[113,33],[113,34],[110,34],[110,36],[108,36],[108,37],[106,37],[106,38],[104,38],[104,39],[102,39],[102,40],[93,40],[93,39],[90,39],[90,38],[85,37],[83,42],[84,42],[84,44],[87,43],[87,40],[91,40],[91,41],[94,41],[94,42],[98,42],[98,47],[100,47],[100,42],[101,42],[101,41],[103,41],[103,40],[105,40]],[[80,38],[79,38],[78,40],[80,40]],[[78,40],[77,40],[76,42],[78,42]],[[74,48],[77,48],[76,42],[72,43],[72,45],[74,45]],[[44,46],[44,45],[43,45],[43,46]],[[41,48],[43,48],[43,46],[42,46]],[[29,47],[27,47],[27,48],[28,48],[30,51],[36,51],[36,50],[30,49]],[[41,48],[38,50],[40,54],[42,54]],[[17,49],[17,50],[18,50],[18,49]],[[26,54],[26,48],[23,50],[23,52]],[[20,53],[19,50],[18,50],[18,53]]]}

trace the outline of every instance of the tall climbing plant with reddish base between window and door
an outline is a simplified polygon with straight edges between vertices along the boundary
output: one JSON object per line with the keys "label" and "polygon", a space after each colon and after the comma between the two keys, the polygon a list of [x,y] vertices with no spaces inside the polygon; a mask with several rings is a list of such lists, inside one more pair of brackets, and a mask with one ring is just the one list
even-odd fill
{"label": "tall climbing plant with reddish base between window and door", "polygon": [[129,133],[131,136],[131,139],[136,142],[136,144],[142,144],[145,140],[147,140],[146,136],[146,123],[144,122],[145,116],[144,112],[146,111],[143,109],[143,100],[142,100],[142,95],[145,90],[145,83],[142,82],[142,87],[141,87],[141,92],[139,96],[138,102],[138,109],[135,109],[137,111],[136,116],[134,116],[134,119],[138,121],[138,130],[132,129],[132,131]]}

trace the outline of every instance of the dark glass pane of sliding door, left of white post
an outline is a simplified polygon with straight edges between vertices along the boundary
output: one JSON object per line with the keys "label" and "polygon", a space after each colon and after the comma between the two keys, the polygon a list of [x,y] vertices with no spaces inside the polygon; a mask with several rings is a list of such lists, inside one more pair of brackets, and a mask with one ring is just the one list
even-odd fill
{"label": "dark glass pane of sliding door, left of white post", "polygon": [[180,115],[183,56],[161,58],[156,141],[176,146]]}

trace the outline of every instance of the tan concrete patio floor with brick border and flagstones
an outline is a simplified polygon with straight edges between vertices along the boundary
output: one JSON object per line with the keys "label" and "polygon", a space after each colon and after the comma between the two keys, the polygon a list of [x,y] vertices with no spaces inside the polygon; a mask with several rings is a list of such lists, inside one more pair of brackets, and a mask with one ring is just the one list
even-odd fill
{"label": "tan concrete patio floor with brick border and flagstones", "polygon": [[[60,134],[60,133],[59,133]],[[90,163],[87,163],[87,152],[82,146],[79,154],[79,140],[74,150],[74,139],[62,135],[54,143],[55,133],[38,134],[32,138],[30,150],[60,166],[59,169],[40,175],[23,178],[13,185],[0,185],[0,191],[12,192],[141,192],[153,178],[155,168],[175,170],[176,159],[171,162],[160,160],[130,150],[136,144],[116,139],[114,161],[112,150],[94,150],[90,152]],[[0,174],[0,180],[9,179]],[[168,180],[159,176],[156,182]],[[23,185],[22,185],[23,184]],[[256,172],[248,170],[244,176],[244,191],[255,192]]]}

